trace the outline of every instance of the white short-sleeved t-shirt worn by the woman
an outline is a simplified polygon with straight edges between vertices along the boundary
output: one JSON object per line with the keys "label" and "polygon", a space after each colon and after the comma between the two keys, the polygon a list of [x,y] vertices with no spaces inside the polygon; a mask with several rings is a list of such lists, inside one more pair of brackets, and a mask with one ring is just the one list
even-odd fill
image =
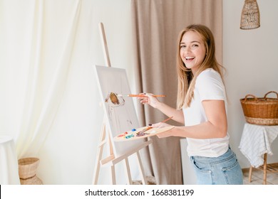
{"label": "white short-sleeved t-shirt worn by the woman", "polygon": [[[195,84],[194,97],[190,107],[183,108],[185,115],[185,126],[192,126],[207,122],[202,100],[217,99],[225,101],[227,114],[227,97],[225,87],[220,74],[209,68],[198,75]],[[224,138],[217,139],[191,139],[187,138],[188,156],[217,157],[225,154],[229,147],[229,134]]]}

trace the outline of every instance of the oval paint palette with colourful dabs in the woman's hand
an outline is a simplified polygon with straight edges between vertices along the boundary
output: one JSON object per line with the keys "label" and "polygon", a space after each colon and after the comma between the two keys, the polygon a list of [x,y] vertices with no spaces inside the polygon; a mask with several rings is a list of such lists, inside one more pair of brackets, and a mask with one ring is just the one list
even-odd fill
{"label": "oval paint palette with colourful dabs in the woman's hand", "polygon": [[149,136],[155,136],[165,131],[173,129],[173,126],[163,127],[163,128],[150,128],[150,127],[141,127],[138,129],[132,129],[131,131],[126,131],[123,134],[119,134],[114,137],[114,141],[130,141],[135,139],[143,139]]}

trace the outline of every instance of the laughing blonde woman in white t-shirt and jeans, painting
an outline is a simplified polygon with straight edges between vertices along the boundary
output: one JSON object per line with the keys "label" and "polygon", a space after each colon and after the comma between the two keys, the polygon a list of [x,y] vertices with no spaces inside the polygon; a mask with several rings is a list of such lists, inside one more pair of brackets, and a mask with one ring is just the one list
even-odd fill
{"label": "laughing blonde woman in white t-shirt and jeans, painting", "polygon": [[[177,109],[152,94],[145,94],[140,102],[183,124],[158,137],[187,138],[187,154],[198,184],[242,184],[242,169],[229,146],[227,98],[212,32],[203,25],[187,26],[181,31],[177,45]],[[162,122],[152,124],[152,127],[167,126]]]}

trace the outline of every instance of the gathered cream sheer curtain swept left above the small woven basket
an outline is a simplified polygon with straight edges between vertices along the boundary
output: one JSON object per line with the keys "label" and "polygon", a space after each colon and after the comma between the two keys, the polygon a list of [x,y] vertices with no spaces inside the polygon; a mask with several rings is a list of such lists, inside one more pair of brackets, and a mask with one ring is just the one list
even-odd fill
{"label": "gathered cream sheer curtain swept left above the small woven basket", "polygon": [[[25,5],[17,3],[18,6],[5,6],[7,10],[4,16],[10,18],[9,22],[4,21],[4,37],[6,46],[13,46],[16,39],[20,45],[17,45],[17,49],[6,48],[4,59],[10,64],[6,65],[7,68],[19,68],[22,70],[21,77],[26,78],[21,85],[25,93],[21,98],[21,124],[16,135],[16,151],[21,158],[38,154],[56,117],[71,67],[81,2],[71,1],[63,6],[64,11],[71,14],[60,18],[66,23],[59,23],[53,17],[61,14],[57,8],[62,4],[56,1],[29,1]],[[18,11],[16,15],[14,12],[22,9],[21,6],[27,14]],[[20,20],[19,27],[17,24]],[[14,29],[11,28],[13,24]],[[53,48],[54,45],[56,48]],[[22,57],[12,58],[20,50]],[[16,74],[11,75],[15,77]],[[19,80],[14,80],[14,84],[18,83]]]}

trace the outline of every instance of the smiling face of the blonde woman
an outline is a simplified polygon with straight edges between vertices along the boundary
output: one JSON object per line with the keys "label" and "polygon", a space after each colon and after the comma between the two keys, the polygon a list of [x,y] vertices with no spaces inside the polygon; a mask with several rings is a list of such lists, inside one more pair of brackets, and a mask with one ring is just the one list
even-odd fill
{"label": "smiling face of the blonde woman", "polygon": [[180,41],[180,58],[193,75],[205,59],[205,43],[199,33],[187,31]]}

